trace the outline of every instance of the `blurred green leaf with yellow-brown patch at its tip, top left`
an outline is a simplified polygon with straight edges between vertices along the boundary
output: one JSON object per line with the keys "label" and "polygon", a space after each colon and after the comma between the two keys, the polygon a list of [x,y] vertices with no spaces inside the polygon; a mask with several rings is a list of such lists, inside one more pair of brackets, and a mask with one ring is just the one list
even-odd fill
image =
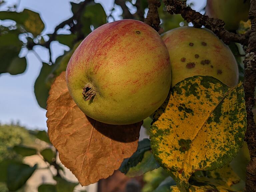
{"label": "blurred green leaf with yellow-brown patch at its tip, top left", "polygon": [[17,24],[23,25],[25,30],[32,33],[35,37],[40,35],[44,29],[44,23],[40,18],[39,13],[29,9],[24,9],[23,12],[20,13],[0,11],[0,19],[11,19],[16,21]]}

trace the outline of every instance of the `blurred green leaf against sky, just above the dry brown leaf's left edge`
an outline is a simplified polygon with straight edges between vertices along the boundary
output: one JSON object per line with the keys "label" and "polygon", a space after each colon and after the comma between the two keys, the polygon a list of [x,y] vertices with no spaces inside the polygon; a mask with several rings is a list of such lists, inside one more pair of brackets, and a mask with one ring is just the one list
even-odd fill
{"label": "blurred green leaf against sky, just above the dry brown leaf's left edge", "polygon": [[36,96],[37,103],[40,107],[46,109],[46,101],[49,97],[49,91],[51,85],[46,83],[46,79],[53,69],[53,65],[42,63],[42,68],[39,76],[37,77],[34,85],[34,93]]}

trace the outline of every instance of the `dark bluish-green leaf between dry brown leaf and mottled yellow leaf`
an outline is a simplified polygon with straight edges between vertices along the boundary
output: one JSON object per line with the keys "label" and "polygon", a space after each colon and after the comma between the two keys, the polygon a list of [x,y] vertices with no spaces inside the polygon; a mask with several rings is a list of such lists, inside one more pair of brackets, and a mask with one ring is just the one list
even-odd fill
{"label": "dark bluish-green leaf between dry brown leaf and mottled yellow leaf", "polygon": [[122,173],[127,173],[131,167],[135,167],[142,161],[144,153],[150,150],[150,140],[143,139],[139,141],[137,151],[129,158],[123,160],[119,170]]}

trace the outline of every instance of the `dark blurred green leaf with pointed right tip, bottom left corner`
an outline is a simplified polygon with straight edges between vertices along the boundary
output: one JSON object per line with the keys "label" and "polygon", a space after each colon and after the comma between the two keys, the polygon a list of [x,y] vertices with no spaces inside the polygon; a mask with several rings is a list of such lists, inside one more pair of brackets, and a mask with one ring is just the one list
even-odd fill
{"label": "dark blurred green leaf with pointed right tip, bottom left corner", "polygon": [[37,165],[30,167],[29,165],[16,163],[10,164],[7,168],[7,187],[10,191],[16,191],[21,188],[30,176],[36,170]]}

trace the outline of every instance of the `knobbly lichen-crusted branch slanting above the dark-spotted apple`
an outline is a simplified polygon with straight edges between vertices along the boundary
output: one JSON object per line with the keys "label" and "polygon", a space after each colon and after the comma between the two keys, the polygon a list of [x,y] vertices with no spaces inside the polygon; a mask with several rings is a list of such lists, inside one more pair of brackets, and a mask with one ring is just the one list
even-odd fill
{"label": "knobbly lichen-crusted branch slanting above the dark-spotted apple", "polygon": [[224,43],[230,42],[240,43],[242,45],[248,45],[249,34],[235,34],[228,32],[224,28],[224,21],[220,19],[209,18],[206,15],[202,15],[199,12],[191,9],[187,6],[186,1],[182,0],[163,0],[166,5],[166,10],[171,14],[181,14],[181,16],[187,21],[192,22],[195,27],[205,26],[213,31]]}

